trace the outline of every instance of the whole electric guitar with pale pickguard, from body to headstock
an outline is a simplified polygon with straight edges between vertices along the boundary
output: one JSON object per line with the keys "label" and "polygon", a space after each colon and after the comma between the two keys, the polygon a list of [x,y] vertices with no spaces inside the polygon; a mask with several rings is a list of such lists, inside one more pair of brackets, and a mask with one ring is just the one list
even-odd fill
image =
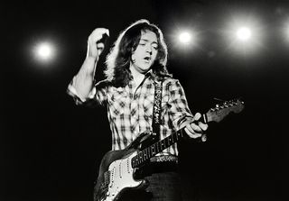
{"label": "whole electric guitar with pale pickguard, from body to headstock", "polygon": [[[240,113],[244,102],[231,100],[211,108],[202,114],[204,123],[220,122],[230,113]],[[142,142],[147,141],[154,134],[141,133],[125,150],[108,151],[100,163],[97,183],[94,187],[94,201],[115,201],[121,194],[130,188],[147,187],[145,179],[135,179],[135,170],[144,166],[157,153],[165,150],[183,136],[183,129],[173,132],[159,142],[141,148]]]}

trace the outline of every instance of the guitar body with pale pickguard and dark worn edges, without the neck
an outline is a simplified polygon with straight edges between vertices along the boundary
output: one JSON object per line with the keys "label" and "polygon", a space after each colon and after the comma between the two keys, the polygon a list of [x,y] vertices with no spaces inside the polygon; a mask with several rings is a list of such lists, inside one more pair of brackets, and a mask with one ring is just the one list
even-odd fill
{"label": "guitar body with pale pickguard and dark worn edges, without the neck", "polygon": [[145,179],[135,179],[132,158],[138,153],[135,147],[147,138],[147,134],[139,136],[125,150],[108,151],[100,163],[97,184],[94,187],[94,201],[113,201],[130,188],[145,188]]}

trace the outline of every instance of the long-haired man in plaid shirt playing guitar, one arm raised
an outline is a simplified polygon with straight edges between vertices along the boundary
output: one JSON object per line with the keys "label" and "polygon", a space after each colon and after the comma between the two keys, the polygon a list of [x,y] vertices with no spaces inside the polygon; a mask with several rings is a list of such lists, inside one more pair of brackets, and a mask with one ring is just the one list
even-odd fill
{"label": "long-haired man in plaid shirt playing guitar, one arm raised", "polygon": [[[121,32],[107,55],[106,79],[94,81],[102,41],[107,29],[97,28],[89,35],[87,57],[72,79],[68,92],[77,104],[95,102],[107,107],[112,132],[112,150],[124,150],[144,132],[153,131],[154,92],[162,86],[159,139],[182,128],[193,139],[200,138],[208,124],[200,114],[191,114],[179,80],[166,69],[167,47],[163,33],[154,24],[139,20]],[[157,114],[156,114],[157,115]],[[124,200],[181,200],[179,176],[175,168],[177,144],[158,153],[144,166],[142,177],[149,181],[144,190],[127,191]]]}

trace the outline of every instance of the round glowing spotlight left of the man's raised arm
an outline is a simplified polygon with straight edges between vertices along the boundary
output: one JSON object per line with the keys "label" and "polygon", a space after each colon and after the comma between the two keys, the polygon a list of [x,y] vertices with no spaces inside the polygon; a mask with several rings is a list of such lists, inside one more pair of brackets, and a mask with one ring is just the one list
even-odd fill
{"label": "round glowing spotlight left of the man's raised arm", "polygon": [[42,41],[37,43],[33,48],[34,58],[41,62],[48,62],[54,59],[55,48],[51,42]]}

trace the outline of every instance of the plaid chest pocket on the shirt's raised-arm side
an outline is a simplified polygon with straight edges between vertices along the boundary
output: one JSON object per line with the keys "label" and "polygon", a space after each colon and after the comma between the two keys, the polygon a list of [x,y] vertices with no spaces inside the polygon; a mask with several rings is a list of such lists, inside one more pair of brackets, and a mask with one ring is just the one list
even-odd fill
{"label": "plaid chest pocket on the shirt's raised-arm side", "polygon": [[109,112],[112,118],[124,114],[126,108],[127,93],[123,89],[112,89],[107,96]]}

